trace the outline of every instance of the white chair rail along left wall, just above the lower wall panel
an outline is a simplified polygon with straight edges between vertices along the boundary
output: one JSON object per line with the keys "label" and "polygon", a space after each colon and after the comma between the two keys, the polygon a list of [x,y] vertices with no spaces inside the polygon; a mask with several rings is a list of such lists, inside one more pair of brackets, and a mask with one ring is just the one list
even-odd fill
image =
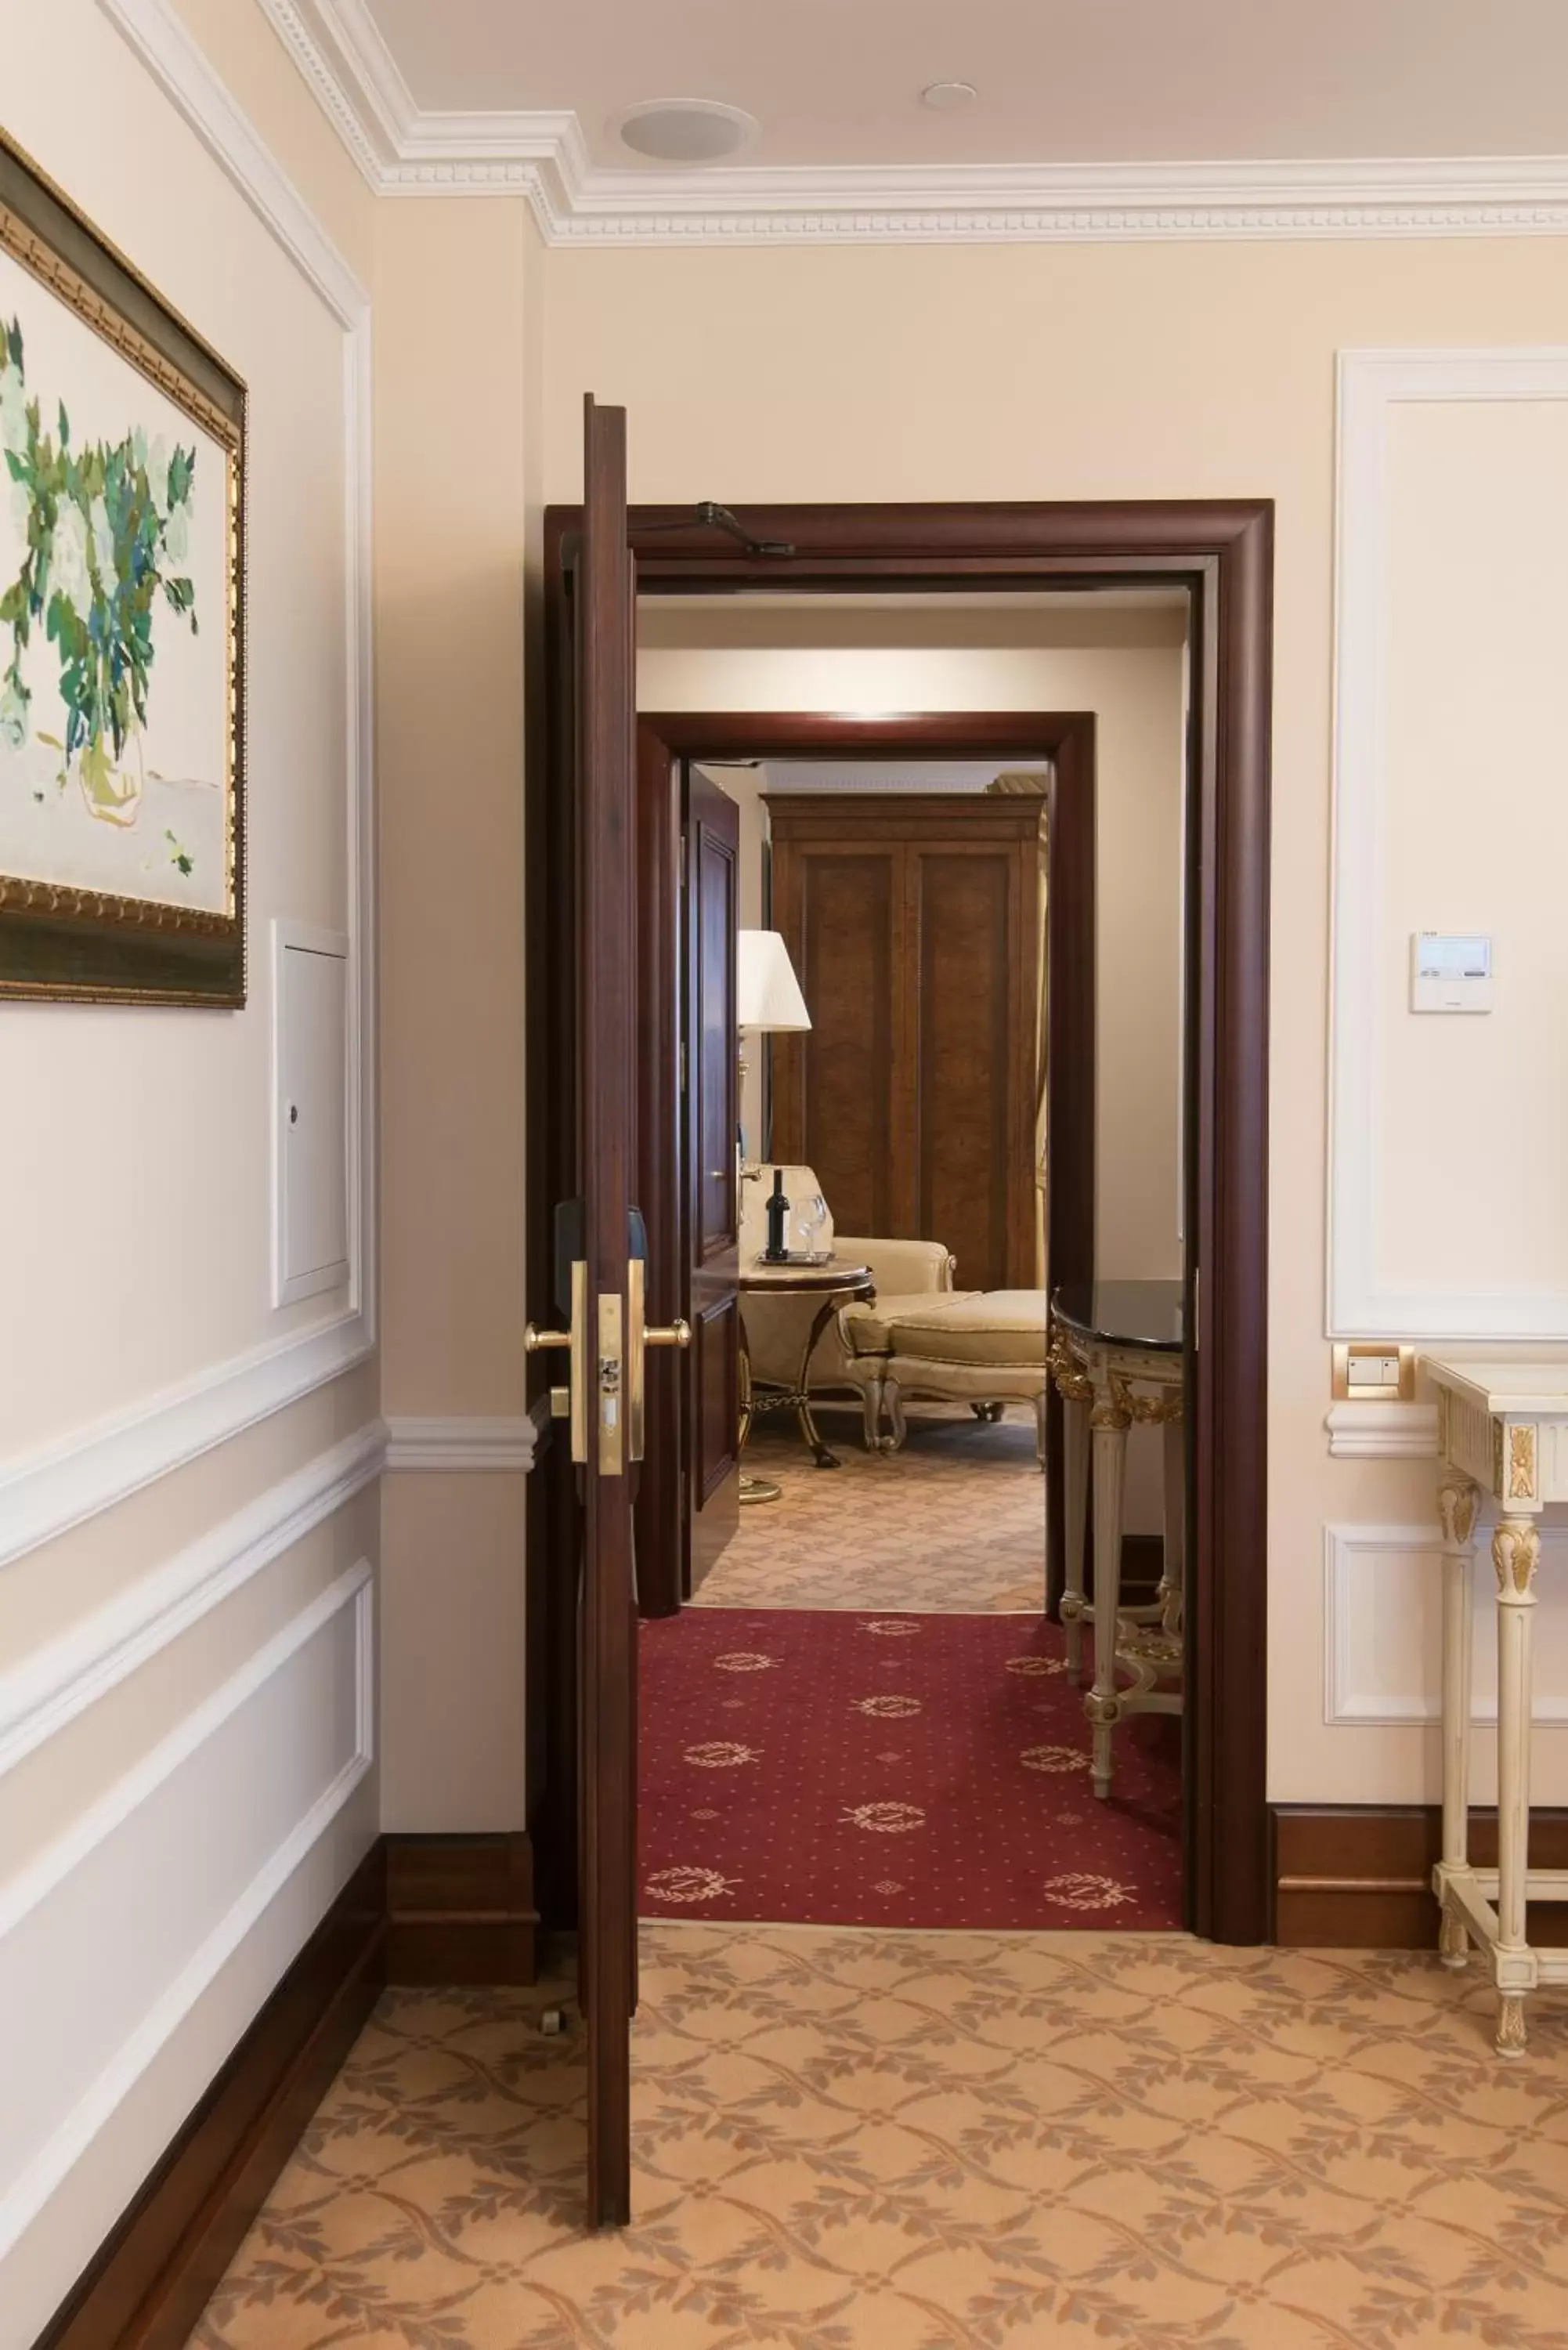
{"label": "white chair rail along left wall, just above the lower wall panel", "polygon": [[0,1779],[343,1509],[383,1462],[374,1419],[0,1673]]}

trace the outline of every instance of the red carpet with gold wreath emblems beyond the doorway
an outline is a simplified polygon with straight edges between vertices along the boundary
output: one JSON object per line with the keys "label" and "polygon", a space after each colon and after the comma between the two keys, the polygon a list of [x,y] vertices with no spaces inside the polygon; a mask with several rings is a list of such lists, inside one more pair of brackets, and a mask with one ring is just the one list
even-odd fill
{"label": "red carpet with gold wreath emblems beyond the doorway", "polygon": [[689,1607],[642,1626],[642,1915],[1175,1927],[1175,1727],[1095,1802],[1053,1624]]}

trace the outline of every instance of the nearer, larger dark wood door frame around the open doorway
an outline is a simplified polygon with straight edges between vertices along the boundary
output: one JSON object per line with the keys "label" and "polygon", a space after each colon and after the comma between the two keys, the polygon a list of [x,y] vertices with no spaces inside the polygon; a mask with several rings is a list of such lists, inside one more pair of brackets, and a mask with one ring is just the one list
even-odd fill
{"label": "nearer, larger dark wood door frame around the open doorway", "polygon": [[[1187,1925],[1213,1941],[1265,1941],[1267,1629],[1267,1196],[1269,1196],[1269,703],[1274,505],[1267,498],[1098,501],[1051,505],[738,505],[752,555],[691,508],[630,512],[644,595],[755,590],[961,592],[1180,585],[1192,609],[1187,841],[1187,1285],[1192,1408],[1190,1622],[1185,1716]],[[576,508],[545,515],[545,639],[559,663],[567,625],[562,540]],[[552,674],[557,670],[552,667]],[[559,705],[559,696],[557,696]],[[529,1163],[534,1274],[548,1283],[550,1130],[562,1119],[559,994],[552,921],[571,921],[559,862],[569,745],[529,778],[529,858],[545,916],[531,952],[529,1069],[536,1114]],[[552,1048],[555,1029],[555,1048]],[[567,1081],[569,1083],[569,1081]],[[541,1090],[543,1088],[543,1090]],[[569,1093],[564,1095],[569,1100]],[[543,1295],[543,1292],[541,1292]],[[557,1450],[557,1448],[552,1448]],[[545,1455],[548,1462],[548,1455]],[[545,1509],[541,1499],[538,1511]],[[538,1553],[536,1553],[538,1558]],[[552,1570],[543,1560],[545,1577]],[[545,1596],[548,1605],[548,1596]],[[545,1713],[557,1650],[531,1650],[531,1699]],[[559,1687],[559,1680],[555,1683]],[[541,1840],[571,1854],[571,1798],[555,1753]],[[545,1885],[559,1885],[562,1871]],[[569,1866],[569,1859],[567,1859]],[[548,1899],[548,1896],[545,1896]]]}

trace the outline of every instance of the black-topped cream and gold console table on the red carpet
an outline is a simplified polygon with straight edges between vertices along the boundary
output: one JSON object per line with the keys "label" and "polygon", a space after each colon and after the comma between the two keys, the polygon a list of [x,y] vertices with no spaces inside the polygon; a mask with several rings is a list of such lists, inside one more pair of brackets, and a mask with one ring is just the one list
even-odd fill
{"label": "black-topped cream and gold console table on the red carpet", "polygon": [[[1182,1429],[1180,1281],[1091,1281],[1051,1295],[1051,1377],[1065,1405],[1063,1626],[1067,1671],[1081,1671],[1084,1624],[1095,1636],[1093,1687],[1084,1713],[1093,1732],[1093,1791],[1112,1788],[1112,1734],[1128,1713],[1182,1711],[1182,1551],[1187,1452]],[[1140,1394],[1154,1389],[1154,1394]],[[1147,1607],[1121,1605],[1121,1499],[1126,1431],[1133,1419],[1164,1429],[1166,1553]],[[1093,1450],[1095,1596],[1084,1596],[1084,1532]],[[1117,1676],[1128,1673],[1131,1687]],[[1164,1687],[1161,1687],[1164,1683]]]}

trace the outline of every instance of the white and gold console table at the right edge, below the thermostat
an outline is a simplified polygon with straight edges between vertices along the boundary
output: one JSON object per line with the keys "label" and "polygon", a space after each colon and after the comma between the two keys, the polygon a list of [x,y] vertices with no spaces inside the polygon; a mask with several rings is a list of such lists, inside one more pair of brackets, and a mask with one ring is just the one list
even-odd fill
{"label": "white and gold console table at the right edge, below the thermostat", "polygon": [[[1443,1856],[1432,1892],[1443,1913],[1439,1953],[1462,1967],[1474,1941],[1497,1986],[1497,2054],[1523,2056],[1523,2002],[1568,1983],[1568,1950],[1533,1950],[1526,1911],[1566,1901],[1568,1871],[1533,1871],[1530,1845],[1530,1614],[1537,1520],[1568,1502],[1568,1358],[1448,1363],[1422,1358],[1436,1386],[1439,1520],[1443,1528]],[[1481,1497],[1497,1506],[1497,1866],[1469,1859],[1469,1636]]]}

